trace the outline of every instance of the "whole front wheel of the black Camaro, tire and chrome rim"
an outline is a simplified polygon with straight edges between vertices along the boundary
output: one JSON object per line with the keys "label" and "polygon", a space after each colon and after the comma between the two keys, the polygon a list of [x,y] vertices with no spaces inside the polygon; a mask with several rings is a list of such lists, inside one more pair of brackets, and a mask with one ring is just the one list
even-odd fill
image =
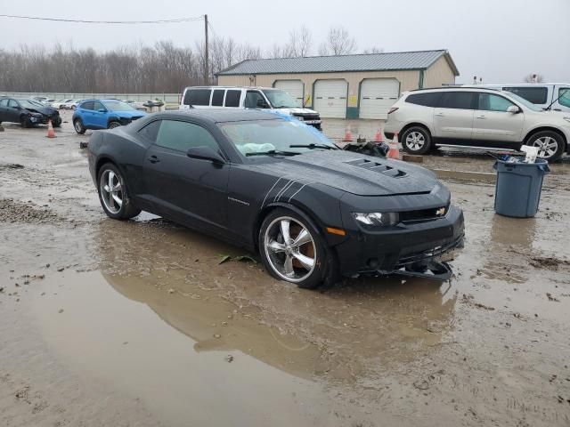
{"label": "whole front wheel of the black Camaro, tire and chrome rim", "polygon": [[265,217],[258,236],[259,253],[273,278],[314,289],[322,284],[332,257],[313,222],[289,209]]}

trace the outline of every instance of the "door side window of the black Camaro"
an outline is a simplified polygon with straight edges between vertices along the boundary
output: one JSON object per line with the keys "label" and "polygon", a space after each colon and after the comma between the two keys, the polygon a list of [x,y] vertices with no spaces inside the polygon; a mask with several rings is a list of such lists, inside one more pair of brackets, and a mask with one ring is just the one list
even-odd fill
{"label": "door side window of the black Camaro", "polygon": [[206,129],[193,123],[162,120],[156,144],[185,153],[192,147],[209,147],[219,150],[216,140]]}

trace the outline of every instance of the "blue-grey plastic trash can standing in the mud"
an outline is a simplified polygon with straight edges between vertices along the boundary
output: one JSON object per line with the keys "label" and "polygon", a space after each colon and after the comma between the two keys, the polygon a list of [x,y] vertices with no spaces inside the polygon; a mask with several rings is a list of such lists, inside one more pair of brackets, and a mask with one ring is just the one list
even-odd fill
{"label": "blue-grey plastic trash can standing in the mud", "polygon": [[533,217],[541,200],[542,179],[550,172],[549,163],[542,158],[537,158],[536,163],[524,163],[524,157],[509,160],[497,160],[493,166],[497,171],[495,212],[516,218]]}

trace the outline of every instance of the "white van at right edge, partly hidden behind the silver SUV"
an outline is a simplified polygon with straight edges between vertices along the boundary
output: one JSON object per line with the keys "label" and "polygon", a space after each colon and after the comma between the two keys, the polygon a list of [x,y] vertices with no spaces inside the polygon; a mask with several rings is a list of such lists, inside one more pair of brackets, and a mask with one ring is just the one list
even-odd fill
{"label": "white van at right edge, partly hidden behind the silver SUV", "polygon": [[570,84],[524,83],[515,85],[476,85],[515,93],[542,109],[570,111]]}

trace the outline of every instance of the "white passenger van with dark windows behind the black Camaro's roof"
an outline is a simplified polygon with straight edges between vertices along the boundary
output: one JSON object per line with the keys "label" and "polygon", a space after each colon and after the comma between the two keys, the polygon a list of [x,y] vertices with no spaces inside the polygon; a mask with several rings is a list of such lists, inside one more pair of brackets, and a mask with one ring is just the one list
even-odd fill
{"label": "white passenger van with dark windows behind the black Camaro's roof", "polygon": [[276,109],[321,129],[313,109],[298,106],[289,93],[273,87],[191,86],[184,89],[180,109]]}

